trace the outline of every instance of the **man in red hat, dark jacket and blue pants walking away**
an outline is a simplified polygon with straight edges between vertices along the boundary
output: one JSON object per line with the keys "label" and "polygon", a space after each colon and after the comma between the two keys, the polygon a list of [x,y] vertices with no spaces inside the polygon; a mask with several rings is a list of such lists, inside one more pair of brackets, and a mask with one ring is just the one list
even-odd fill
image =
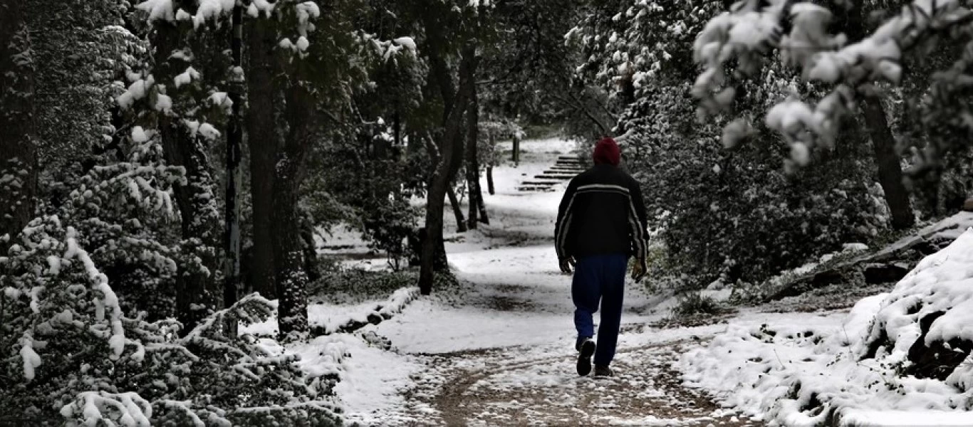
{"label": "man in red hat, dark jacket and blue pants walking away", "polygon": [[[560,200],[555,246],[560,270],[571,273],[574,326],[578,330],[578,374],[611,376],[625,294],[625,270],[635,257],[631,277],[645,275],[645,204],[634,179],[618,167],[618,144],[603,138],[595,145],[595,166],[571,180]],[[597,344],[592,316],[601,305]]]}

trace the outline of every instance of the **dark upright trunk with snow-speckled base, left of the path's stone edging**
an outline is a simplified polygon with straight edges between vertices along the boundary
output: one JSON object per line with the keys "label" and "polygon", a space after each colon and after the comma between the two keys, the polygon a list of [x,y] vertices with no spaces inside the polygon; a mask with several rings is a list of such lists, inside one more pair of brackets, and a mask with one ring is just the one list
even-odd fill
{"label": "dark upright trunk with snow-speckled base, left of the path's stone edging", "polygon": [[280,338],[292,339],[307,332],[308,279],[298,203],[314,104],[307,89],[299,85],[287,89],[285,102],[284,119],[289,130],[274,167],[271,220],[274,226],[278,331]]}

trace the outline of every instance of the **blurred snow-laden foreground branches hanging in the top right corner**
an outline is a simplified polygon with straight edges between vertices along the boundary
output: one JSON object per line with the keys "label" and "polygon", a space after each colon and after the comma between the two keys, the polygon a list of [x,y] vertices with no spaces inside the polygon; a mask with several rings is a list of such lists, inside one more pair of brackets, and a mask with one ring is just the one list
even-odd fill
{"label": "blurred snow-laden foreground branches hanging in the top right corner", "polygon": [[[736,86],[762,77],[769,60],[820,85],[821,96],[779,100],[754,116],[792,144],[790,161],[803,165],[807,153],[834,145],[859,101],[905,85],[907,102],[921,103],[910,130],[924,134],[902,138],[900,149],[912,151],[910,174],[921,176],[941,167],[944,154],[969,146],[970,13],[958,0],[738,1],[697,37],[694,59],[703,71],[693,93],[702,116],[732,113]],[[728,127],[725,135],[734,133]]]}

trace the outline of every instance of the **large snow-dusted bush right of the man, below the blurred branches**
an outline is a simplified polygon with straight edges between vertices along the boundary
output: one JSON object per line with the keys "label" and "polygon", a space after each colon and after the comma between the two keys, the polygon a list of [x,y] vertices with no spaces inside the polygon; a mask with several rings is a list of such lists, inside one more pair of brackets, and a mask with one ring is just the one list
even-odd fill
{"label": "large snow-dusted bush right of the man, below the blurred branches", "polygon": [[858,146],[788,177],[778,157],[786,146],[773,134],[758,129],[752,144],[727,151],[694,109],[688,84],[646,89],[619,124],[668,262],[692,275],[684,286],[758,282],[883,229],[881,190],[866,184],[871,167]]}

